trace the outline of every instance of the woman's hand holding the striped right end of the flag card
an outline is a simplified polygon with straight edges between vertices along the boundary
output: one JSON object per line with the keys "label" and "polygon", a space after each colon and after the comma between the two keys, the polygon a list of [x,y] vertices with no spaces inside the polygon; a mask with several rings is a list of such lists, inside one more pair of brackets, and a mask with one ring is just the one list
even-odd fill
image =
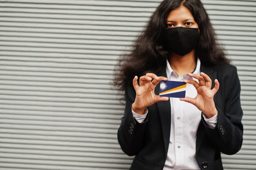
{"label": "woman's hand holding the striped right end of the flag card", "polygon": [[[195,80],[184,80],[185,83],[193,84],[198,95],[195,98],[185,97],[180,98],[181,101],[189,102],[195,105],[199,110],[207,116],[207,118],[211,118],[217,113],[217,109],[215,107],[213,96],[219,90],[220,84],[217,79],[215,79],[215,87],[211,89],[211,79],[205,73],[200,73],[200,75],[189,73],[189,77],[194,77],[198,79],[199,83]],[[204,81],[206,80],[206,82]]]}

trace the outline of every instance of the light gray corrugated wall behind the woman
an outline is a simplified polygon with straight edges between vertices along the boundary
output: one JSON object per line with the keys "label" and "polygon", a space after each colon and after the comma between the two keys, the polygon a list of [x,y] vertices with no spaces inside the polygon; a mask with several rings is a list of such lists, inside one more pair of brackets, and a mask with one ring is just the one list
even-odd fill
{"label": "light gray corrugated wall behind the woman", "polygon": [[[117,59],[161,0],[0,0],[0,170],[127,170],[117,142]],[[237,66],[243,148],[256,169],[256,0],[203,0]]]}

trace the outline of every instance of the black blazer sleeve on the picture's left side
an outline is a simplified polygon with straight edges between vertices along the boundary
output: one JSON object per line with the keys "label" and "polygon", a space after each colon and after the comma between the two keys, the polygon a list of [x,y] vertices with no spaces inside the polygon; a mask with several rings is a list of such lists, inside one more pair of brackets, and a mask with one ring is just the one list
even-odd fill
{"label": "black blazer sleeve on the picture's left side", "polygon": [[117,132],[117,139],[126,155],[137,155],[143,146],[144,132],[146,129],[148,115],[143,123],[139,123],[132,115],[132,103],[135,101],[136,93],[133,86],[125,89],[125,110],[121,118],[121,125]]}

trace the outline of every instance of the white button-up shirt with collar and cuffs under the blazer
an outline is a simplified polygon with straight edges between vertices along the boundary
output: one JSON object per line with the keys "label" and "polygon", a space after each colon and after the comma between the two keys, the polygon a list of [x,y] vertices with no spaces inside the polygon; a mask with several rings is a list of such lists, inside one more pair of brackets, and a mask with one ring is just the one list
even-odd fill
{"label": "white button-up shirt with collar and cuffs under the blazer", "polygon": [[[200,60],[197,60],[197,65],[194,74],[200,75]],[[180,77],[173,71],[169,62],[166,66],[167,79],[171,81],[183,82],[184,79],[193,79],[198,82],[198,79],[184,75]],[[186,85],[186,97],[196,97],[197,91],[192,84]],[[171,104],[171,135],[167,152],[167,158],[164,165],[164,170],[200,170],[195,156],[196,134],[201,121],[201,111],[193,104],[180,101],[179,98],[170,97]],[[144,115],[138,115],[132,110],[133,117],[139,123],[143,122],[148,114],[148,109]],[[214,128],[218,121],[218,113],[207,119],[203,114],[204,120],[210,128]]]}

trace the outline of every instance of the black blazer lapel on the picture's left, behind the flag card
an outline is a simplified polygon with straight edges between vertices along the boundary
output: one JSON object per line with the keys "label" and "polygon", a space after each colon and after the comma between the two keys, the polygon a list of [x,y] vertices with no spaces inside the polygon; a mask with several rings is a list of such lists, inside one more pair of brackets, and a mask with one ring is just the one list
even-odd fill
{"label": "black blazer lapel on the picture's left, behind the flag card", "polygon": [[[166,67],[163,67],[160,71],[158,71],[157,76],[164,76],[166,75]],[[155,94],[159,95],[159,86],[158,83],[155,87]],[[162,131],[164,136],[164,147],[165,147],[165,156],[167,156],[169,141],[170,141],[170,133],[171,133],[171,104],[170,99],[168,101],[161,101],[157,102],[157,110],[159,112],[161,124],[162,124]]]}

